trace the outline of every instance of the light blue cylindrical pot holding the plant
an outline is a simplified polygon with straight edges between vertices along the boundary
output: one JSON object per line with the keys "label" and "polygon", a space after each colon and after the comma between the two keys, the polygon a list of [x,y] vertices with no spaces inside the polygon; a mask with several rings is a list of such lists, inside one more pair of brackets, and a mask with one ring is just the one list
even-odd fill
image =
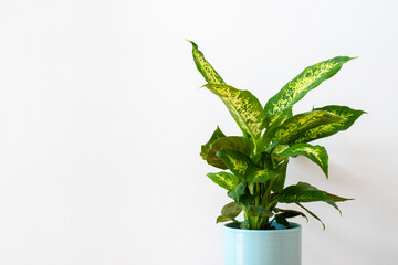
{"label": "light blue cylindrical pot holding the plant", "polygon": [[275,230],[241,230],[233,223],[223,227],[224,265],[301,265],[301,225]]}

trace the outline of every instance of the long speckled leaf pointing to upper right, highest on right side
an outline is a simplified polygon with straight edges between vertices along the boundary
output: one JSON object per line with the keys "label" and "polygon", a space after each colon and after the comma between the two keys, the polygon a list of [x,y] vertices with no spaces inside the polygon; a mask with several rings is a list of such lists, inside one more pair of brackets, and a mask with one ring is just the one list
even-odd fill
{"label": "long speckled leaf pointing to upper right, highest on right side", "polygon": [[268,117],[292,107],[311,89],[317,87],[325,80],[334,76],[344,63],[353,60],[348,56],[337,56],[306,67],[300,75],[289,82],[282,89],[265,104]]}

